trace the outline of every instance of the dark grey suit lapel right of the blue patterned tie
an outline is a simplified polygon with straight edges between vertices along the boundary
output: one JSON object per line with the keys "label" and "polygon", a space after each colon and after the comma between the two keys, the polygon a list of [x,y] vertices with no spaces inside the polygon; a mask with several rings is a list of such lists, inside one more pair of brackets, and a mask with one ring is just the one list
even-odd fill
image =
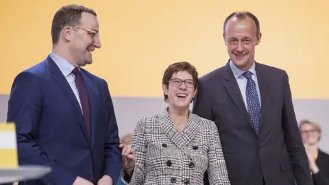
{"label": "dark grey suit lapel right of the blue patterned tie", "polygon": [[272,103],[272,99],[269,92],[269,84],[267,84],[267,79],[265,77],[265,71],[263,71],[262,66],[258,63],[256,63],[256,73],[261,101],[260,126],[262,126],[264,125],[265,112],[268,106]]}

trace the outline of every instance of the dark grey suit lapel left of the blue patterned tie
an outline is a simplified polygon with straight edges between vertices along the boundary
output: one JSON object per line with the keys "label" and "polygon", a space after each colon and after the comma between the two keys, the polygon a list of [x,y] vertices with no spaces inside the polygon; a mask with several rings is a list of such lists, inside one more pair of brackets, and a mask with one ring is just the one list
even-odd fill
{"label": "dark grey suit lapel left of the blue patterned tie", "polygon": [[226,91],[228,91],[228,95],[230,95],[232,101],[234,101],[234,104],[237,108],[239,108],[241,114],[243,114],[245,120],[249,123],[249,125],[252,127],[256,134],[254,125],[252,125],[252,120],[250,119],[247,109],[245,108],[245,103],[241,95],[241,90],[239,88],[238,82],[236,82],[229,62],[226,64],[226,66],[224,66],[223,81]]}

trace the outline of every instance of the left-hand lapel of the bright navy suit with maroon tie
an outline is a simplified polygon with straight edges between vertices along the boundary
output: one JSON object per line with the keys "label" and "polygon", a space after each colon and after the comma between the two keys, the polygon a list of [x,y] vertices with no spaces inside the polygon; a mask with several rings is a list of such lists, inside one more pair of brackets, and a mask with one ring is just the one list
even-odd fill
{"label": "left-hand lapel of the bright navy suit with maroon tie", "polygon": [[[75,114],[77,115],[77,118],[79,119],[80,126],[82,128],[82,131],[84,132],[84,136],[88,142],[88,135],[86,126],[84,125],[84,117],[81,112],[81,108],[79,105],[79,102],[77,101],[77,98],[75,97],[73,90],[69,83],[66,81],[66,78],[58,68],[55,62],[48,56],[46,59],[46,64],[48,66],[48,69],[50,71],[51,77],[55,79],[55,81],[58,83],[60,88],[62,88],[64,94],[66,95],[67,99],[69,99],[69,102],[71,103],[71,106],[73,107],[73,110]],[[89,143],[89,142],[88,142]]]}

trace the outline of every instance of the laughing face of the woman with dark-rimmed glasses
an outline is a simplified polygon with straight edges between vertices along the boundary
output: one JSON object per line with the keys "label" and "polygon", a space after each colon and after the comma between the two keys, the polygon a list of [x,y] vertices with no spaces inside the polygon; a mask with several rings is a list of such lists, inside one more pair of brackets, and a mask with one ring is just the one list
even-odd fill
{"label": "laughing face of the woman with dark-rimmed glasses", "polygon": [[175,109],[188,109],[197,93],[193,77],[188,71],[173,73],[169,84],[162,84],[162,90],[168,96],[169,107]]}

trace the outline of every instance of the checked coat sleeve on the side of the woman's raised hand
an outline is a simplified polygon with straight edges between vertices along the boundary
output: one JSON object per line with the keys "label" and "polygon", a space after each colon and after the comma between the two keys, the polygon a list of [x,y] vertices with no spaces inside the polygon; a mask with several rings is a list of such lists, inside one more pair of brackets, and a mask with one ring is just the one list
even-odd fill
{"label": "checked coat sleeve on the side of the woman's raised hand", "polygon": [[125,184],[144,184],[145,182],[145,160],[146,160],[146,137],[145,119],[140,119],[132,136],[132,149],[136,155],[136,164],[131,177],[125,171],[122,173],[122,180]]}

